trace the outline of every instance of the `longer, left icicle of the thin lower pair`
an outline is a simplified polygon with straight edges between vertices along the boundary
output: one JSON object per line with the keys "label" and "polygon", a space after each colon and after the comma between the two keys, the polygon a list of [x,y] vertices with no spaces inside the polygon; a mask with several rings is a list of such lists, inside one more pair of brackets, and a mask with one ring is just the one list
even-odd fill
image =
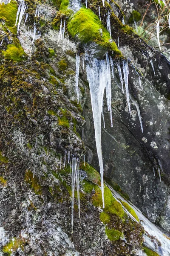
{"label": "longer, left icicle of the thin lower pair", "polygon": [[73,157],[72,159],[72,183],[71,183],[71,233],[73,233],[73,218],[74,218],[74,187],[75,187],[75,177],[77,169],[77,159]]}

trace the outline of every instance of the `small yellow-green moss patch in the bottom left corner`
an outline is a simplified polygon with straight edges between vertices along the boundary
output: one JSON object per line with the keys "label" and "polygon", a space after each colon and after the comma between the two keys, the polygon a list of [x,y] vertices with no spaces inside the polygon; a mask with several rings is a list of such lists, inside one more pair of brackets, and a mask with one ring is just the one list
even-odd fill
{"label": "small yellow-green moss patch in the bottom left corner", "polygon": [[25,243],[22,240],[20,240],[19,238],[14,237],[13,239],[11,239],[11,241],[8,244],[6,244],[3,247],[3,252],[7,253],[7,255],[9,256],[19,248],[21,248],[23,250],[24,249],[24,244]]}

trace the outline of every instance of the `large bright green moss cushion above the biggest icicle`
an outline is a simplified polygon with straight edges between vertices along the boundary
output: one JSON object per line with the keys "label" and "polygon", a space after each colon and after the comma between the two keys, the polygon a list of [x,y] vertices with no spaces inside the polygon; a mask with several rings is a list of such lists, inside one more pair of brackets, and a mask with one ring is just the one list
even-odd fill
{"label": "large bright green moss cushion above the biggest icicle", "polygon": [[117,48],[115,42],[111,42],[110,34],[102,25],[99,17],[91,11],[91,9],[81,8],[74,14],[68,22],[68,32],[72,37],[78,36],[82,43],[94,41],[96,44],[104,48],[116,52],[117,55],[122,56],[122,53]]}

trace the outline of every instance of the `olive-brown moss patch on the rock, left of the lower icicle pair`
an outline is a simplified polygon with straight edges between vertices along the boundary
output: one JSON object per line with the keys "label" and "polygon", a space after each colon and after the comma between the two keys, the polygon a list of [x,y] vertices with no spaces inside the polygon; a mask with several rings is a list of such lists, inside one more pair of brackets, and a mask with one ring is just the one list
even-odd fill
{"label": "olive-brown moss patch on the rock, left of the lower icicle pair", "polygon": [[42,194],[42,186],[38,184],[38,178],[34,175],[31,171],[27,171],[25,175],[25,181],[30,184],[31,188],[34,189],[35,194],[41,195]]}

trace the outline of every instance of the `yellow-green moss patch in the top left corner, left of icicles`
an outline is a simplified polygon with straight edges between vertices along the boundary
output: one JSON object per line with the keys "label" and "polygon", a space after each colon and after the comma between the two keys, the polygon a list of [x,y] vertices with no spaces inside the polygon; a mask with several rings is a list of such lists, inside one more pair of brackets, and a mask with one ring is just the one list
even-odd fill
{"label": "yellow-green moss patch in the top left corner, left of icicles", "polygon": [[14,0],[11,0],[11,2],[8,4],[0,4],[0,19],[6,21],[6,25],[9,29],[15,25],[17,9],[18,5]]}

